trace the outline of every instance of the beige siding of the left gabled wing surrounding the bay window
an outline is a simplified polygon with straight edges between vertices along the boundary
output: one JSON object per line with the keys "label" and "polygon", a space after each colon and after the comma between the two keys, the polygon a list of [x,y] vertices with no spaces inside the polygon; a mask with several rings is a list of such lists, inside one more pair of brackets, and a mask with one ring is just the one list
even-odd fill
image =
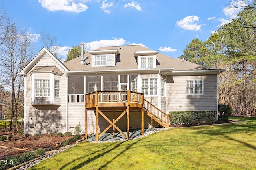
{"label": "beige siding of the left gabled wing surrounding the bay window", "polygon": [[[61,80],[61,96],[62,98],[56,99],[58,102],[61,100],[61,105],[31,105],[31,79],[30,72],[36,66],[56,66],[62,73],[64,69],[60,67],[51,57],[47,54],[42,57],[30,71],[26,74],[26,126],[24,132],[26,134],[44,134],[50,132],[66,132],[66,75],[59,76]],[[36,73],[33,74],[34,79],[49,79],[50,74]],[[58,76],[57,76],[58,77]],[[35,97],[36,99],[36,97]],[[54,98],[55,99],[55,98]],[[33,127],[33,128],[30,128]],[[59,127],[59,128],[56,128]]]}

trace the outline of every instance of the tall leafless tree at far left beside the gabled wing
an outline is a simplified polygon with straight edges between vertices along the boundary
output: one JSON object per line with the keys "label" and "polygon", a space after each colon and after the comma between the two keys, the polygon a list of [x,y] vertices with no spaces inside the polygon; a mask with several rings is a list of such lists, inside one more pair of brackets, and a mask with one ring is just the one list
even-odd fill
{"label": "tall leafless tree at far left beside the gabled wing", "polygon": [[11,120],[18,128],[18,103],[23,78],[18,74],[32,57],[32,43],[28,32],[17,26],[12,18],[5,17],[2,21],[2,35],[0,46],[0,84],[11,91]]}

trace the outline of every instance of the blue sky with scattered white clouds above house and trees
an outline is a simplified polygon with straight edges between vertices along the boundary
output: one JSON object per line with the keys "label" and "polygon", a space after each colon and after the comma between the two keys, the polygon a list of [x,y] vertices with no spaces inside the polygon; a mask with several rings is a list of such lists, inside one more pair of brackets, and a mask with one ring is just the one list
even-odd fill
{"label": "blue sky with scattered white clouds above house and trees", "polygon": [[237,11],[233,0],[0,0],[26,28],[38,51],[40,34],[56,37],[58,57],[72,46],[144,45],[178,58],[194,38],[207,40]]}

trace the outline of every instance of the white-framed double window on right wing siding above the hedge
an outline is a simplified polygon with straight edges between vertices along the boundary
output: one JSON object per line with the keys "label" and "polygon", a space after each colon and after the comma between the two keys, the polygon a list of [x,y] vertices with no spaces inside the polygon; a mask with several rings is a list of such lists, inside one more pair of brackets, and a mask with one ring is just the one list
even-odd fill
{"label": "white-framed double window on right wing siding above the hedge", "polygon": [[202,95],[203,94],[203,80],[186,80],[186,94],[187,95]]}

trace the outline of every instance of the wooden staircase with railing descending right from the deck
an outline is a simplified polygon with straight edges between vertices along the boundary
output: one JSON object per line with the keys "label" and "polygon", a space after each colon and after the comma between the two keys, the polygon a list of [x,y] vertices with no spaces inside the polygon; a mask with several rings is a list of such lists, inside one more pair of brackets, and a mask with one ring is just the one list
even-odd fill
{"label": "wooden staircase with railing descending right from the deck", "polygon": [[162,127],[169,127],[169,115],[152,105],[149,101],[144,99],[144,114],[148,115],[152,120],[156,121]]}

